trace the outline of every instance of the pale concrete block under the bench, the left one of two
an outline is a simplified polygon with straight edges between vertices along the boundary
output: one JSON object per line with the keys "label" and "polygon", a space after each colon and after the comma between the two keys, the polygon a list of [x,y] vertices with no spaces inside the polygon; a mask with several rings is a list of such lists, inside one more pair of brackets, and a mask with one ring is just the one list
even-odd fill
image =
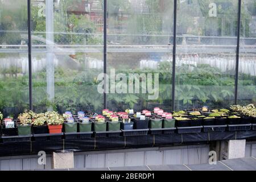
{"label": "pale concrete block under the bench, the left one of two", "polygon": [[53,169],[69,169],[74,168],[73,152],[53,152],[52,154]]}

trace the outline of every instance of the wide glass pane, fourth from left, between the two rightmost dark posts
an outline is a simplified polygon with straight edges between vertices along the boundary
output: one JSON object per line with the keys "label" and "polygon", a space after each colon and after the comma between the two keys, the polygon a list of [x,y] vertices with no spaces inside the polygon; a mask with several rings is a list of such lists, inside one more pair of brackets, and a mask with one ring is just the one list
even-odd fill
{"label": "wide glass pane, fourth from left, between the two rightmost dark posts", "polygon": [[238,1],[178,1],[175,109],[234,104]]}

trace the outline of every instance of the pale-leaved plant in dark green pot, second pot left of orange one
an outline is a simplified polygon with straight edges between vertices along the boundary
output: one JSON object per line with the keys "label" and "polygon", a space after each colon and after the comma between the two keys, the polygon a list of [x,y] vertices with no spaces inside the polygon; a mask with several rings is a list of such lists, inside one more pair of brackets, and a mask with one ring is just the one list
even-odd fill
{"label": "pale-leaved plant in dark green pot, second pot left of orange one", "polygon": [[28,112],[19,114],[17,127],[18,135],[31,135],[31,115]]}

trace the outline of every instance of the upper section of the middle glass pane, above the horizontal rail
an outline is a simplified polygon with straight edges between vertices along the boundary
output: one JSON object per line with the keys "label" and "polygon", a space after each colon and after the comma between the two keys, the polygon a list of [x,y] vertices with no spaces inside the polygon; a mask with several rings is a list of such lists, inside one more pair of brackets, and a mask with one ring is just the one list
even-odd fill
{"label": "upper section of the middle glass pane, above the horizontal rail", "polygon": [[108,44],[172,44],[173,14],[173,0],[109,0]]}

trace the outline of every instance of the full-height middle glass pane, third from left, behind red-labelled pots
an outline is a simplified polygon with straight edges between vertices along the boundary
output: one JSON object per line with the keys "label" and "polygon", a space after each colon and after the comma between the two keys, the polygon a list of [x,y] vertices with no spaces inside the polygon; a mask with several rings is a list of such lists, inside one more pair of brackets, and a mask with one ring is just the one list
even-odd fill
{"label": "full-height middle glass pane, third from left, behind red-labelled pots", "polygon": [[108,1],[108,109],[171,110],[173,6],[169,0]]}

